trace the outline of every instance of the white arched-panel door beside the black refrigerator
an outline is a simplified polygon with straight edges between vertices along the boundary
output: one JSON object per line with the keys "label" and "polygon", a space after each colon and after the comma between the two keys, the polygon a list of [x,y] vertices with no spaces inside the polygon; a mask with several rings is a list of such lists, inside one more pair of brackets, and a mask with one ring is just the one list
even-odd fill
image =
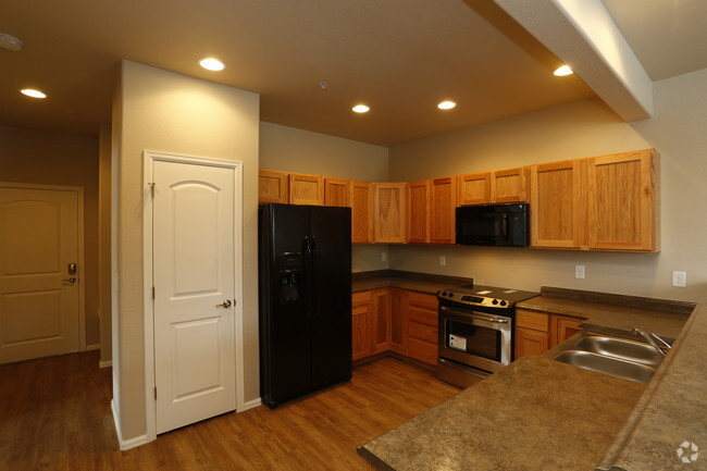
{"label": "white arched-panel door beside the black refrigerator", "polygon": [[153,163],[157,433],[236,408],[234,172]]}

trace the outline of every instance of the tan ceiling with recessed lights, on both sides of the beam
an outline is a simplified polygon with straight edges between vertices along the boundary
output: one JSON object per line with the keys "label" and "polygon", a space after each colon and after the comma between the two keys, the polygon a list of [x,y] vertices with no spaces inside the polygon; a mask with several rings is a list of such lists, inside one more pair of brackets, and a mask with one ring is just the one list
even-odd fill
{"label": "tan ceiling with recessed lights, on both sides of the beam", "polygon": [[[646,64],[675,55],[659,57],[646,37],[675,48],[687,20],[703,24],[695,45],[707,30],[694,10],[704,0],[604,2]],[[629,3],[670,3],[681,27],[646,25],[665,12],[632,15]],[[0,124],[70,133],[110,120],[121,59],[256,91],[263,121],[385,146],[594,95],[576,76],[553,76],[559,60],[489,0],[2,1],[0,32],[25,42],[0,50]],[[201,70],[208,55],[226,70]],[[678,55],[707,66],[707,54]],[[654,79],[684,67],[646,66]],[[26,87],[49,98],[27,99]],[[459,106],[441,112],[443,99]],[[352,113],[358,102],[371,112]]]}

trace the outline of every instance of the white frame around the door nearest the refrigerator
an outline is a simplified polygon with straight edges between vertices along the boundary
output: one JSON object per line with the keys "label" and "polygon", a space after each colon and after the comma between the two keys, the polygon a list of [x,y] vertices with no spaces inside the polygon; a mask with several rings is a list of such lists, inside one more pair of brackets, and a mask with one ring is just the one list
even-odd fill
{"label": "white frame around the door nearest the refrigerator", "polygon": [[153,150],[142,151],[142,299],[145,312],[145,405],[147,419],[147,442],[157,438],[157,401],[154,398],[154,300],[152,299],[152,179],[154,162],[174,162],[193,165],[233,169],[234,184],[234,342],[236,360],[236,411],[245,410],[245,359],[243,322],[243,162],[206,157],[184,156]]}

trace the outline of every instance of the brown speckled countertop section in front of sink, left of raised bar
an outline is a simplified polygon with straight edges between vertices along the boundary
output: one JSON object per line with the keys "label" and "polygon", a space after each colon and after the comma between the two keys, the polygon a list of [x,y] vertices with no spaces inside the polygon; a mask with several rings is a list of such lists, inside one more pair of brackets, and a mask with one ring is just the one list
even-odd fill
{"label": "brown speckled countertop section in front of sink, left of raised bar", "polygon": [[358,451],[380,470],[591,471],[644,389],[525,357]]}

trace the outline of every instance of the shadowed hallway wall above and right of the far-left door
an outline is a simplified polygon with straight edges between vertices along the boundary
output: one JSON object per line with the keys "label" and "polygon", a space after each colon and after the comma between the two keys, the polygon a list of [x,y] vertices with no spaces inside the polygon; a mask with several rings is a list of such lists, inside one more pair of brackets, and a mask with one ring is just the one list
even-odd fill
{"label": "shadowed hallway wall above and right of the far-left door", "polygon": [[84,188],[86,345],[98,346],[98,140],[0,126],[0,182]]}

